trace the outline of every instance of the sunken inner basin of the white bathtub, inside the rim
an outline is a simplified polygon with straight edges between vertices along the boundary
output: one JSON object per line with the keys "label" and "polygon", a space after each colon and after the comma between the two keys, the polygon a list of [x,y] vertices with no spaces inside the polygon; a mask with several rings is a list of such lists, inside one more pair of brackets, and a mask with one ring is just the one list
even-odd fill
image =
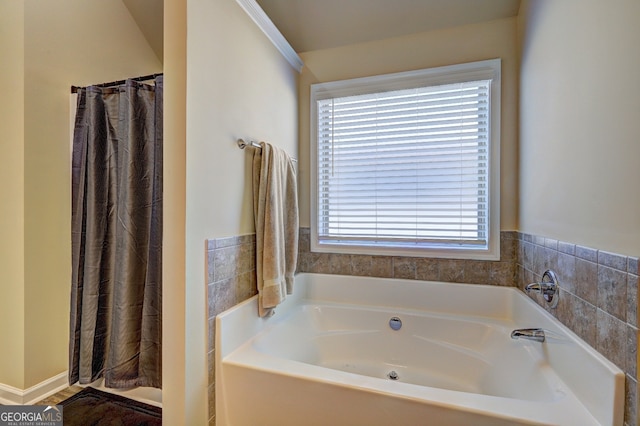
{"label": "sunken inner basin of the white bathtub, inside the rim", "polygon": [[[402,327],[389,327],[391,318]],[[535,343],[512,321],[304,304],[252,341],[278,358],[347,373],[532,401],[567,392]]]}

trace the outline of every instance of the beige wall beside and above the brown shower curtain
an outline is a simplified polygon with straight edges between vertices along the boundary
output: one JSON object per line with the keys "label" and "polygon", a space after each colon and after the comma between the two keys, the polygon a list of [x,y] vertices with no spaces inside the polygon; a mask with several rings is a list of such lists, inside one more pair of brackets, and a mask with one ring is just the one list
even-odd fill
{"label": "beige wall beside and above the brown shower curtain", "polygon": [[[16,4],[24,9],[16,11]],[[11,43],[16,60],[2,61],[2,77],[16,74],[7,80],[15,84],[9,91],[14,109],[7,116],[12,120],[12,145],[10,156],[3,155],[1,160],[3,165],[10,162],[14,190],[7,193],[9,200],[2,201],[16,207],[2,214],[18,217],[18,223],[13,222],[11,238],[0,242],[3,252],[14,253],[9,259],[17,259],[10,273],[0,275],[0,291],[15,289],[7,301],[17,303],[12,309],[22,310],[11,320],[22,334],[13,344],[21,345],[24,352],[22,366],[2,363],[0,374],[11,368],[5,384],[26,389],[67,370],[70,87],[159,72],[162,64],[121,1],[4,0],[1,7],[0,19],[10,19],[7,28],[13,34],[11,42],[2,38],[0,43],[3,49]],[[5,63],[11,67],[4,68]],[[22,78],[17,75],[20,72]],[[3,144],[3,153],[5,149]],[[23,223],[19,223],[19,206],[24,208]],[[24,295],[21,305],[19,293]],[[4,341],[6,331],[0,330]],[[0,375],[0,383],[4,380]]]}

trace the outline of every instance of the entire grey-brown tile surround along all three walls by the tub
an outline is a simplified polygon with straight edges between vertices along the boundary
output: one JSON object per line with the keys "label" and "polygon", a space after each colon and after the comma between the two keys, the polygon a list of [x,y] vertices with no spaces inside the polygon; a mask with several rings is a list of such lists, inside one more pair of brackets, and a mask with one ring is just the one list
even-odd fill
{"label": "entire grey-brown tile surround along all three walls by the tub", "polygon": [[[483,283],[524,288],[546,269],[559,277],[547,310],[626,374],[625,425],[637,424],[638,258],[515,231],[502,231],[499,261],[312,253],[300,229],[298,272]],[[215,424],[215,327],[218,313],[256,294],[255,235],[207,241],[209,424]],[[543,307],[540,297],[532,296]]]}

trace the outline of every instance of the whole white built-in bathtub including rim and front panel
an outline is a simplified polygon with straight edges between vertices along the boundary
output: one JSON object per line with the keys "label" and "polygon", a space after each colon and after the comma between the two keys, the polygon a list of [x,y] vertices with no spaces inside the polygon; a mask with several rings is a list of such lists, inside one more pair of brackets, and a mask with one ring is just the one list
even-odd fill
{"label": "whole white built-in bathtub including rim and front panel", "polygon": [[218,426],[623,422],[623,372],[515,288],[299,274],[257,311],[216,319]]}

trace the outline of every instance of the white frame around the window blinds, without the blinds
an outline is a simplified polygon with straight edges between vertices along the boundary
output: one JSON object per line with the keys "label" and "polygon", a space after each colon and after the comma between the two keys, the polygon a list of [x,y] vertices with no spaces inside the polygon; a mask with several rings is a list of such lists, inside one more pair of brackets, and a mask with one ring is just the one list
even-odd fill
{"label": "white frame around the window blinds, without the blinds", "polygon": [[[486,246],[431,244],[428,247],[397,247],[353,243],[321,242],[318,235],[318,101],[412,87],[437,86],[475,80],[491,80],[489,150],[488,241]],[[311,251],[324,253],[413,256],[476,260],[500,259],[500,117],[501,60],[427,68],[349,80],[311,84],[310,87],[310,224]]]}

